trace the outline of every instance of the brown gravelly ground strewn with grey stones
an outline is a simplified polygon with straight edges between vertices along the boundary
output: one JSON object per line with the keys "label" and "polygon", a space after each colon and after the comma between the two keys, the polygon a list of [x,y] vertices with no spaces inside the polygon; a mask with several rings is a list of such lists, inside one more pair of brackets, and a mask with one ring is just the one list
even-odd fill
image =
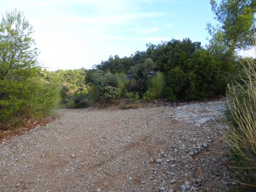
{"label": "brown gravelly ground strewn with grey stones", "polygon": [[0,191],[227,191],[225,100],[60,109],[0,144]]}

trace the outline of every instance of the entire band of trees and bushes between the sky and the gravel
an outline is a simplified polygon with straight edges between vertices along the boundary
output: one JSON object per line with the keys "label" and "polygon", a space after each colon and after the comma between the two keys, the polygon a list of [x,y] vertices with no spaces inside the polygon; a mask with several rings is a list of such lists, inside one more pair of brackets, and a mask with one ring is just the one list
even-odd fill
{"label": "entire band of trees and bushes between the sky and the gravel", "polygon": [[[128,98],[197,100],[226,92],[241,69],[237,51],[253,45],[255,1],[211,0],[220,22],[207,25],[207,47],[189,38],[147,44],[129,57],[110,56],[91,70],[43,70],[31,38],[33,28],[17,10],[0,22],[0,128],[52,109],[85,108]],[[127,75],[131,77],[127,79]]]}

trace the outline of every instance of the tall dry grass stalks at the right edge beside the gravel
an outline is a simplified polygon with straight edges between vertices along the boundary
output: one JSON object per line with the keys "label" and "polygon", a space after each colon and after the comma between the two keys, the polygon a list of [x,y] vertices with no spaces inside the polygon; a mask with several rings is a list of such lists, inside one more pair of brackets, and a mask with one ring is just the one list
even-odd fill
{"label": "tall dry grass stalks at the right edge beside the gravel", "polygon": [[232,84],[227,94],[228,127],[225,141],[236,162],[234,168],[244,173],[246,184],[256,187],[256,63],[244,66],[240,83]]}

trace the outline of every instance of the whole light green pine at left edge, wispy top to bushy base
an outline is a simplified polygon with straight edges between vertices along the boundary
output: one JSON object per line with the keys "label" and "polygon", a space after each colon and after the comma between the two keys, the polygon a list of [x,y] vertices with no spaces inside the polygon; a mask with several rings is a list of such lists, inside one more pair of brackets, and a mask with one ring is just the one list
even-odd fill
{"label": "whole light green pine at left edge, wispy top to bushy base", "polygon": [[[58,86],[39,74],[32,26],[22,13],[6,13],[0,23],[0,123],[17,125],[22,118],[51,114]],[[9,127],[10,128],[10,127]]]}

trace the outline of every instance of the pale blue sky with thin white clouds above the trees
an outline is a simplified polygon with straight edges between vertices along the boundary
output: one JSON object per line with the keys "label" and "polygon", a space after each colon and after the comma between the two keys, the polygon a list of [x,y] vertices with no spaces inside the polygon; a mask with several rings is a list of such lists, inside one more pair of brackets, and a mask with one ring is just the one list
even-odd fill
{"label": "pale blue sky with thin white clouds above the trees", "polygon": [[110,55],[130,56],[146,44],[191,38],[207,44],[216,23],[209,0],[0,0],[33,25],[38,60],[48,70],[91,68]]}

